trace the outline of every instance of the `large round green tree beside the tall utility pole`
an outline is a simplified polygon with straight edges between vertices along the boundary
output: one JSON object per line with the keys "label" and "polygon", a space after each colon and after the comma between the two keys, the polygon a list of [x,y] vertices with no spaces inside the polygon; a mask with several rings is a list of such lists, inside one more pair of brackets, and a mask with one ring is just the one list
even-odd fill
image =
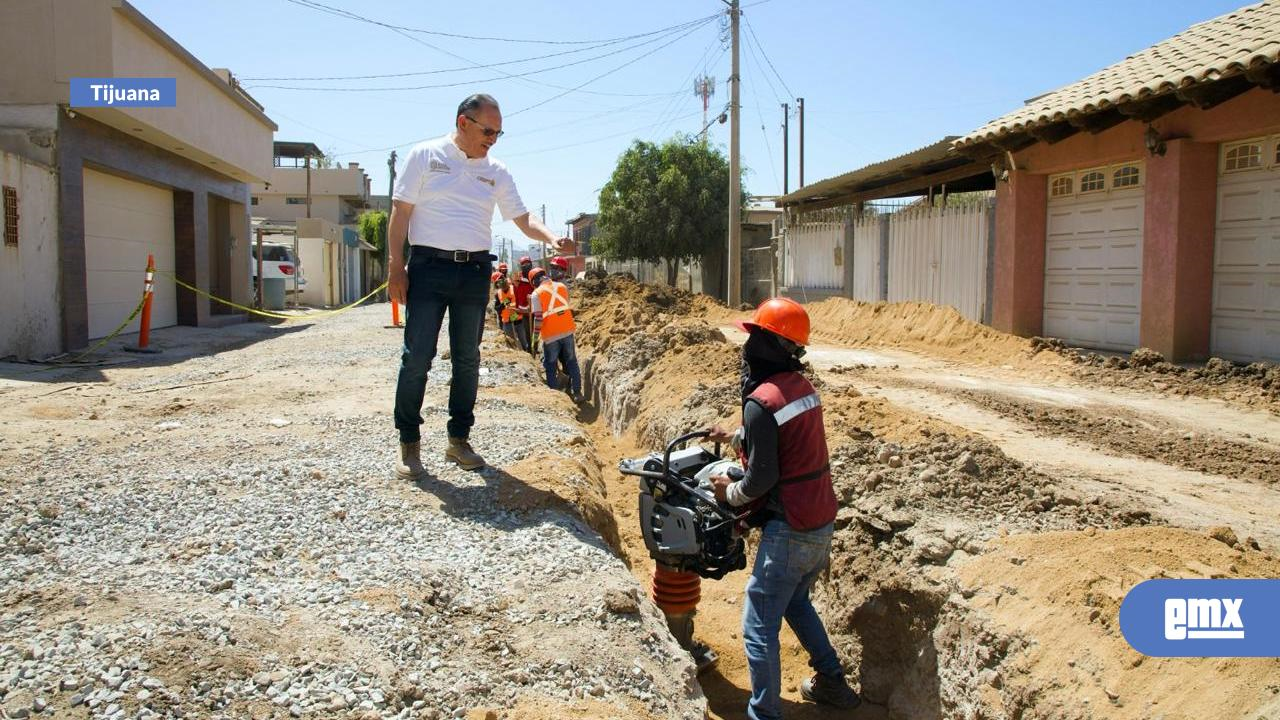
{"label": "large round green tree beside the tall utility pole", "polygon": [[[691,136],[635,141],[600,190],[593,251],[616,260],[681,261],[718,250],[728,234],[728,159]],[[742,208],[746,191],[742,191]]]}

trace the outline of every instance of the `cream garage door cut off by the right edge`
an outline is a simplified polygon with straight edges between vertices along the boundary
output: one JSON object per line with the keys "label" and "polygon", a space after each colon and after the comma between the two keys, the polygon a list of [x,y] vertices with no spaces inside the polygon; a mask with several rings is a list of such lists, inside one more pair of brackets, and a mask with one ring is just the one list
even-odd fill
{"label": "cream garage door cut off by the right edge", "polygon": [[1219,170],[1210,346],[1280,360],[1280,136],[1224,145]]}

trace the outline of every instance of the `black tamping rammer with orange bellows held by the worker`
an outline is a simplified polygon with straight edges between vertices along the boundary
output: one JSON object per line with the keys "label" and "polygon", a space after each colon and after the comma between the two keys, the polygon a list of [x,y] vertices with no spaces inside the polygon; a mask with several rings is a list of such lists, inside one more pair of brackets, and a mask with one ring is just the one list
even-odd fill
{"label": "black tamping rammer with orange bellows held by the worker", "polygon": [[694,641],[703,578],[718,580],[746,568],[744,518],[716,500],[710,482],[713,475],[741,477],[742,468],[721,457],[719,443],[714,452],[687,445],[708,436],[687,433],[663,452],[618,464],[623,474],[640,478],[640,530],[654,560],[653,601],[699,673],[717,661],[714,651]]}

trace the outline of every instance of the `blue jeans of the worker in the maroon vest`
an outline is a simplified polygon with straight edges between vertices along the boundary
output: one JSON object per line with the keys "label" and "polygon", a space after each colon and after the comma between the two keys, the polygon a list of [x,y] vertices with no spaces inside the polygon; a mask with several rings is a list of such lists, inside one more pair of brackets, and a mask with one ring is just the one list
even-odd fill
{"label": "blue jeans of the worker in the maroon vest", "polygon": [[751,673],[746,715],[751,720],[782,717],[778,630],[783,618],[809,652],[809,665],[814,670],[844,675],[827,629],[809,601],[809,588],[831,556],[831,533],[829,524],[806,532],[791,529],[786,520],[769,520],[764,525],[742,609],[742,641]]}

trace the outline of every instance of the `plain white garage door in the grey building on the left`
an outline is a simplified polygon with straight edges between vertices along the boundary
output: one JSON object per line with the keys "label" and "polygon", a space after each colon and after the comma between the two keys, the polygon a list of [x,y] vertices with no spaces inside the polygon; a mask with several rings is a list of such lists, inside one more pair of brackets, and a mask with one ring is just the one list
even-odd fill
{"label": "plain white garage door in the grey building on the left", "polygon": [[[84,270],[88,337],[109,334],[137,306],[147,254],[173,270],[173,192],[84,169]],[[173,279],[157,274],[151,327],[178,323]],[[124,332],[137,332],[134,319]]]}

